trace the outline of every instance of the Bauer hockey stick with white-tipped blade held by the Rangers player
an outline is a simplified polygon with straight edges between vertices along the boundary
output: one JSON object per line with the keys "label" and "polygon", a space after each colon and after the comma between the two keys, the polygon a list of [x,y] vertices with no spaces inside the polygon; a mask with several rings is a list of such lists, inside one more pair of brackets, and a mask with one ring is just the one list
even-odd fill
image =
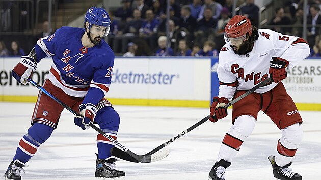
{"label": "Bauer hockey stick with white-tipped blade held by the Rangers player", "polygon": [[[60,105],[62,105],[64,108],[66,108],[67,110],[69,110],[70,112],[72,112],[74,115],[76,116],[82,116],[81,114],[79,114],[78,112],[76,112],[75,110],[73,110],[71,107],[69,107],[68,105],[66,105],[65,103],[63,103],[62,101],[60,101],[58,98],[56,98],[55,96],[51,95],[49,92],[46,91],[46,89],[44,89],[43,87],[41,87],[39,84],[37,84],[35,81],[33,81],[32,79],[28,79],[28,81],[34,85],[35,87],[37,87],[41,92],[45,93],[46,95],[48,95],[50,98],[52,98],[53,100],[55,100],[57,103],[59,103]],[[105,138],[107,138],[108,140],[110,140],[111,142],[115,143],[115,145],[117,145],[118,147],[120,147],[120,149],[122,149],[122,152],[124,152],[124,154],[126,154],[128,157],[131,157],[132,159],[135,159],[135,161],[137,162],[141,162],[141,163],[150,163],[150,162],[154,162],[154,161],[158,161],[161,160],[165,157],[168,156],[169,154],[169,149],[164,149],[164,151],[153,154],[153,155],[137,155],[133,152],[131,152],[128,148],[126,148],[124,145],[122,145],[120,142],[118,142],[116,139],[114,139],[113,137],[109,136],[108,134],[106,134],[105,132],[103,132],[102,130],[100,130],[97,126],[95,126],[94,124],[90,123],[89,124],[90,127],[92,127],[94,130],[96,130],[97,132],[99,132],[100,134],[102,134]],[[118,149],[118,148],[117,148]],[[120,150],[121,151],[121,150]]]}

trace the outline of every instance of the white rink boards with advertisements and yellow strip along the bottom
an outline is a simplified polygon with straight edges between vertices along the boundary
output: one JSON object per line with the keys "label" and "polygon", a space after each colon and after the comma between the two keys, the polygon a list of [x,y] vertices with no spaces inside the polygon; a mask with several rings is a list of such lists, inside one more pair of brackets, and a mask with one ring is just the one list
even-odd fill
{"label": "white rink boards with advertisements and yellow strip along the bottom", "polygon": [[[0,101],[36,101],[37,89],[11,77],[20,58],[0,58]],[[218,94],[217,58],[116,57],[108,97],[113,104],[209,107]],[[33,80],[43,83],[52,64],[42,59]],[[321,110],[321,61],[305,59],[282,81],[301,110]]]}

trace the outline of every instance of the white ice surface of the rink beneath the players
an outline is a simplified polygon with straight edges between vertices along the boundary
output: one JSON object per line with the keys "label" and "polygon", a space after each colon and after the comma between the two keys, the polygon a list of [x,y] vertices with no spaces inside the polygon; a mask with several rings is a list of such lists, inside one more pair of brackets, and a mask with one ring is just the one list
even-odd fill
{"label": "white ice surface of the rink beneath the players", "polygon": [[[3,175],[15,154],[20,138],[30,127],[34,103],[0,102],[0,174]],[[121,117],[118,141],[132,152],[143,155],[194,125],[209,113],[207,108],[119,106]],[[321,112],[300,111],[304,139],[291,168],[304,180],[321,179]],[[207,179],[226,131],[229,116],[217,123],[205,122],[167,147],[167,158],[153,163],[118,162],[126,180]],[[93,129],[81,130],[73,115],[65,110],[57,130],[41,145],[27,163],[22,179],[96,179],[97,152]],[[268,156],[276,152],[281,132],[265,114],[259,113],[253,134],[246,139],[226,171],[227,180],[275,179]]]}

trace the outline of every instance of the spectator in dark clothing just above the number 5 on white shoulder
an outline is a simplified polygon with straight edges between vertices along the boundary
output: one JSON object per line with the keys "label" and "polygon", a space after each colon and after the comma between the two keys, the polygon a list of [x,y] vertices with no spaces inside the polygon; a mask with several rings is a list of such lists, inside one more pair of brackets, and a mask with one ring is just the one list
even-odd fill
{"label": "spectator in dark clothing just above the number 5 on white shoulder", "polygon": [[272,28],[274,31],[277,31],[282,34],[290,34],[292,31],[291,27],[280,27],[282,25],[290,25],[291,19],[284,15],[283,8],[276,8],[275,9],[275,16],[271,19],[269,25],[274,25]]}

